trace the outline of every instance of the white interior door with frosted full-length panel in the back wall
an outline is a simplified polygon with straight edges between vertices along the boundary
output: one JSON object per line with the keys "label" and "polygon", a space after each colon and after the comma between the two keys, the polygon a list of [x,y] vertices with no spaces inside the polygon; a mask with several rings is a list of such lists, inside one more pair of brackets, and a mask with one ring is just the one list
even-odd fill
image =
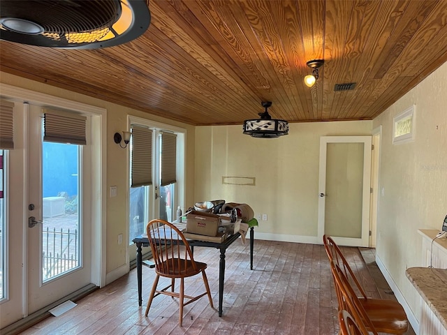
{"label": "white interior door with frosted full-length panel in the back wall", "polygon": [[371,137],[321,137],[319,172],[318,238],[368,246]]}

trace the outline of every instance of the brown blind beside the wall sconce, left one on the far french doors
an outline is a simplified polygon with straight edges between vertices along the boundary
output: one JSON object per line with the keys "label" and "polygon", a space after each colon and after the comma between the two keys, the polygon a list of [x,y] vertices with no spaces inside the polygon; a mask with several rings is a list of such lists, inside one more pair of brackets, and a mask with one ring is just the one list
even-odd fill
{"label": "brown blind beside the wall sconce, left one on the far french doors", "polygon": [[152,131],[132,127],[131,187],[152,185]]}

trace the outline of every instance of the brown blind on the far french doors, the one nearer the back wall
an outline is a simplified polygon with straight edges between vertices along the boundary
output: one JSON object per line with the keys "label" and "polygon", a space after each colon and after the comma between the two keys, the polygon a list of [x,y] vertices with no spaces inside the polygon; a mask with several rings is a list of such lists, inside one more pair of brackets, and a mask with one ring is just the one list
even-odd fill
{"label": "brown blind on the far french doors, the one nearer the back wall", "polygon": [[177,135],[161,133],[161,186],[177,181]]}

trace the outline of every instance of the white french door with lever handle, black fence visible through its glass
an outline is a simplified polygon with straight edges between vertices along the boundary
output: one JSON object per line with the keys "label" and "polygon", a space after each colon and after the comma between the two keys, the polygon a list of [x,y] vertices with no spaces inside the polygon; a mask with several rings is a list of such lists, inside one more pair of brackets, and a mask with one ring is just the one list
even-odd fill
{"label": "white french door with lever handle, black fence visible through its glass", "polygon": [[27,209],[34,224],[28,227],[28,310],[33,313],[90,283],[91,227],[85,148],[43,142],[42,108],[29,105],[28,115]]}

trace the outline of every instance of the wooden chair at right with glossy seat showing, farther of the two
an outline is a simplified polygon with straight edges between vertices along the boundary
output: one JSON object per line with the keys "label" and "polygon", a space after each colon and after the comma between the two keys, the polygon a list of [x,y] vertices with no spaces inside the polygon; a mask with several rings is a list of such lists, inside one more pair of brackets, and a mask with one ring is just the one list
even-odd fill
{"label": "wooden chair at right with glossy seat showing, farther of the two", "polygon": [[[324,235],[323,244],[330,262],[334,262],[339,271],[344,275],[347,285],[349,285],[353,295],[358,299],[358,303],[362,306],[362,309],[366,313],[365,315],[371,320],[376,331],[387,334],[404,334],[408,330],[409,322],[402,305],[398,301],[390,299],[367,297],[365,290],[362,288],[362,285],[360,285],[360,281],[356,278],[356,275],[335,241],[331,237]],[[343,301],[344,298],[340,288],[337,288],[337,283],[335,289],[340,309],[345,302]],[[357,297],[358,293],[360,293],[360,297]],[[365,324],[367,325],[367,328],[369,328],[367,322],[365,322]]]}

